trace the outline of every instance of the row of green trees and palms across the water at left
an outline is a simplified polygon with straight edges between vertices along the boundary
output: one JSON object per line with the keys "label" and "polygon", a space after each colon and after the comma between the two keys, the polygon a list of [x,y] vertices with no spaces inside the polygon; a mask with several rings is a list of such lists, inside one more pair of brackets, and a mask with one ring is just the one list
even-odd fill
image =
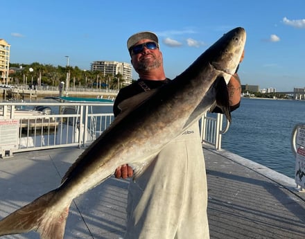
{"label": "row of green trees and palms across the water at left", "polygon": [[[20,67],[22,66],[22,67]],[[69,73],[69,87],[92,87],[98,89],[121,89],[123,76],[121,73],[113,76],[101,71],[86,71],[78,67],[54,67],[51,64],[10,63],[9,78],[12,85],[49,85],[58,87],[60,82],[66,84],[67,73]]]}

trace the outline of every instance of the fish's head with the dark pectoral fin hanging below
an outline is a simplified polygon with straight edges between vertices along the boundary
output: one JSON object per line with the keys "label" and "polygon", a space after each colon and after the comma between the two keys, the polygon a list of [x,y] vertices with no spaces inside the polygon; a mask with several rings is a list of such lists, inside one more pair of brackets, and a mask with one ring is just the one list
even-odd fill
{"label": "fish's head with the dark pectoral fin hanging below", "polygon": [[207,63],[209,66],[207,71],[202,71],[204,73],[203,78],[211,84],[202,98],[200,107],[211,103],[210,111],[212,112],[218,106],[222,109],[223,114],[227,116],[228,121],[231,121],[231,114],[227,84],[236,73],[238,64],[243,59],[245,40],[245,29],[241,27],[234,28],[220,37],[200,56],[202,62]]}

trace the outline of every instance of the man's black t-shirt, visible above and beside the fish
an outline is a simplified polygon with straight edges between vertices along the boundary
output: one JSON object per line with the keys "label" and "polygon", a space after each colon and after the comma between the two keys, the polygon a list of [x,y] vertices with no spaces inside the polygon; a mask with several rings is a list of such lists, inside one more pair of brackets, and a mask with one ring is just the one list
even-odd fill
{"label": "man's black t-shirt, visible above and beside the fish", "polygon": [[[156,89],[161,87],[164,84],[167,84],[171,80],[166,78],[166,80],[137,80],[137,82],[133,82],[131,85],[128,85],[127,87],[122,88],[119,91],[119,94],[116,96],[116,99],[114,100],[114,106],[113,106],[113,112],[114,116],[117,116],[120,112],[121,109],[119,109],[118,105],[121,103],[123,100],[128,99],[132,96],[135,96],[137,94],[140,94],[143,91],[150,90],[150,89]],[[144,84],[141,84],[143,82]],[[230,111],[234,111],[239,107],[240,103],[237,105],[233,105],[230,107]],[[214,113],[223,113],[222,110],[218,107],[216,107],[213,110]]]}

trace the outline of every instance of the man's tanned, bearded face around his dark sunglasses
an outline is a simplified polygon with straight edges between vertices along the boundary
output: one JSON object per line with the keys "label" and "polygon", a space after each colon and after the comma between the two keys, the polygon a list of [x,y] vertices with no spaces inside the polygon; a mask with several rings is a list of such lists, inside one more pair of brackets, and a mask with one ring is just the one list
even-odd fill
{"label": "man's tanned, bearded face around his dark sunglasses", "polygon": [[[143,44],[145,42],[152,42],[150,39],[141,39],[137,44]],[[162,53],[159,51],[159,48],[148,49],[146,46],[143,47],[143,51],[140,53],[134,54],[133,52],[131,62],[134,69],[139,72],[150,71],[152,69],[157,69],[162,67]]]}

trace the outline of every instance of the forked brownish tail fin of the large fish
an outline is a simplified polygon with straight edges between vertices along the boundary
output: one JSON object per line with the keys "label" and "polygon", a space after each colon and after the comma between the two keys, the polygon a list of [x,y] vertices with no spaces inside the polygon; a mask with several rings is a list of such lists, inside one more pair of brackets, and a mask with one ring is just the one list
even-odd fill
{"label": "forked brownish tail fin of the large fish", "polygon": [[60,205],[56,190],[38,197],[0,221],[0,236],[37,231],[42,239],[62,239],[69,205]]}

